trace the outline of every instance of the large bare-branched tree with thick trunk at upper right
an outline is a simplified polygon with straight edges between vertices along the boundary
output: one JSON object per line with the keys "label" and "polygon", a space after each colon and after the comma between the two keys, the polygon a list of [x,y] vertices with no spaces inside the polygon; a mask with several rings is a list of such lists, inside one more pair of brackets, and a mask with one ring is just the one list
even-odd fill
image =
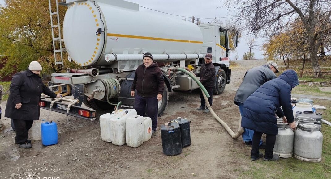
{"label": "large bare-branched tree with thick trunk at upper right", "polygon": [[307,39],[314,76],[321,76],[317,53],[331,33],[331,1],[329,0],[227,0],[235,9],[237,23],[253,33],[275,35],[299,19]]}

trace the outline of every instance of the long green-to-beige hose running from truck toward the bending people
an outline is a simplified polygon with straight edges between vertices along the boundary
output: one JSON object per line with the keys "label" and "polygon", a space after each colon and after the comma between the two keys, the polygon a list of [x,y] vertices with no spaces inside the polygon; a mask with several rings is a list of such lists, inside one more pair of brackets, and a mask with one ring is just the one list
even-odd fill
{"label": "long green-to-beige hose running from truck toward the bending people", "polygon": [[221,119],[219,118],[214,110],[212,109],[212,107],[210,106],[209,104],[209,101],[208,101],[208,97],[210,96],[207,92],[207,90],[205,89],[205,87],[199,82],[198,78],[195,76],[195,74],[193,72],[189,72],[183,68],[178,68],[178,67],[170,67],[169,70],[171,71],[181,71],[181,72],[184,72],[186,73],[187,75],[189,75],[200,87],[201,91],[202,91],[202,94],[205,98],[205,101],[206,101],[206,104],[207,104],[207,107],[209,109],[209,111],[212,113],[213,117],[225,128],[225,130],[230,134],[230,136],[234,139],[240,137],[240,135],[244,132],[244,128],[241,127],[241,116],[239,117],[239,126],[238,126],[238,131],[237,133],[234,133],[231,128]]}

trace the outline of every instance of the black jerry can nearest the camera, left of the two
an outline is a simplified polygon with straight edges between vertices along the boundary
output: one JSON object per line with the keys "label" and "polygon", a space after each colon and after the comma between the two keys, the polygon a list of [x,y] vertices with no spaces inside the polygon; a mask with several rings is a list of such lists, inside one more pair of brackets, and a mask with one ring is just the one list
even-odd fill
{"label": "black jerry can nearest the camera, left of the two", "polygon": [[174,156],[182,153],[179,124],[161,125],[161,139],[164,155]]}

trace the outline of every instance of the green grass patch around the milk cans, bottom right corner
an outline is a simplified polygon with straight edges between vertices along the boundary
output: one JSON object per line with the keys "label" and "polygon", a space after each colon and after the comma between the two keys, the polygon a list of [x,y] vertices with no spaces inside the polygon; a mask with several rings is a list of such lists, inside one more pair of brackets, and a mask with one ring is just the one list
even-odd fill
{"label": "green grass patch around the milk cans, bottom right corner", "polygon": [[[326,110],[318,110],[323,119],[331,121],[330,100],[314,99],[314,104],[323,105]],[[331,126],[322,125],[323,146],[322,161],[311,163],[295,158],[279,161],[263,161],[261,159],[249,162],[248,170],[240,172],[240,178],[331,178]],[[241,168],[234,169],[241,171]]]}

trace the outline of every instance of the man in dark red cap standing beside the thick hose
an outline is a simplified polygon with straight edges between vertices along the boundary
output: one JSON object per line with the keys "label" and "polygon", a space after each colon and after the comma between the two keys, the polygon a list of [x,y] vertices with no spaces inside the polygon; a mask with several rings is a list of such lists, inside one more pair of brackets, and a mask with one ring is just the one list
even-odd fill
{"label": "man in dark red cap standing beside the thick hose", "polygon": [[[210,106],[212,106],[213,103],[213,88],[215,85],[215,67],[212,63],[212,54],[206,54],[205,57],[205,63],[203,63],[200,67],[200,73],[197,73],[196,76],[200,77],[200,82],[202,85],[206,88],[208,94],[210,97],[208,98],[208,102]],[[200,91],[200,107],[197,108],[198,111],[204,110],[204,113],[209,113],[209,109],[206,108],[206,101],[202,94],[202,91]]]}

